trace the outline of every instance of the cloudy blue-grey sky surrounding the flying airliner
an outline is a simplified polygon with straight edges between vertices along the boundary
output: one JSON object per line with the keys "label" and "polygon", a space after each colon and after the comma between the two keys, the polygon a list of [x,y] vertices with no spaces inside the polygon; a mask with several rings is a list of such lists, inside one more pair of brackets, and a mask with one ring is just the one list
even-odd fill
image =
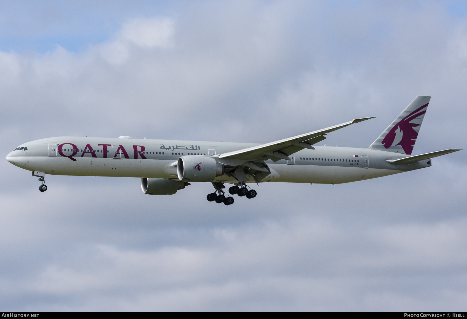
{"label": "cloudy blue-grey sky surrounding the flying airliner", "polygon": [[[6,156],[51,136],[271,142],[356,117],[367,147],[432,96],[414,154],[467,143],[465,1],[1,1]],[[357,183],[211,184],[1,162],[0,309],[460,311],[466,151]],[[243,199],[243,198],[242,198]]]}

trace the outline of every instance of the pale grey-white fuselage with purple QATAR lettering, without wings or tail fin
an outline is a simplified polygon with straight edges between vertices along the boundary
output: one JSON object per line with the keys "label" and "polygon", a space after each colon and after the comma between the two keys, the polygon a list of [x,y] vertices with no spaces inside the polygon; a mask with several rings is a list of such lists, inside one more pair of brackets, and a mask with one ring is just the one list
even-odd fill
{"label": "pale grey-white fuselage with purple QATAR lettering, without wings or tail fin", "polygon": [[[9,153],[7,160],[25,170],[51,175],[178,180],[174,164],[180,156],[219,155],[255,145],[259,144],[63,136],[24,143],[20,146],[23,149]],[[368,156],[368,168],[362,167],[361,156]],[[386,162],[406,156],[375,149],[316,146],[290,155],[291,161],[267,160],[265,163],[272,170],[262,182],[339,184],[431,166],[431,163],[420,162],[406,165]],[[225,174],[215,180],[235,182]]]}

